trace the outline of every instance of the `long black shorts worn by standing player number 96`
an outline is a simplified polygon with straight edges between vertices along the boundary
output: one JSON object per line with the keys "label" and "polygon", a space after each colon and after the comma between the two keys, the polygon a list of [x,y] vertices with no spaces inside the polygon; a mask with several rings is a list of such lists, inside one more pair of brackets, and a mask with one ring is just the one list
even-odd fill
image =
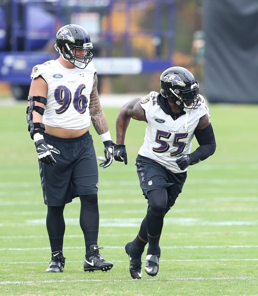
{"label": "long black shorts worn by standing player number 96", "polygon": [[44,203],[49,206],[65,205],[74,197],[98,193],[98,165],[89,132],[75,139],[61,139],[49,134],[47,144],[61,153],[52,153],[54,166],[39,161]]}

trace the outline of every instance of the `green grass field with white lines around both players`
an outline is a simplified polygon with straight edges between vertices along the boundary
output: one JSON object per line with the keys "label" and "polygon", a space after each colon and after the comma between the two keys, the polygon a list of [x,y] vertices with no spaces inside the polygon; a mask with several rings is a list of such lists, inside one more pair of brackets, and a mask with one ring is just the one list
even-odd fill
{"label": "green grass field with white lines around both players", "polygon": [[[134,165],[145,123],[129,125],[128,165],[99,169],[98,243],[113,269],[83,271],[77,198],[64,213],[66,267],[47,274],[47,207],[26,103],[1,106],[0,295],[258,295],[258,106],[209,107],[216,152],[189,168],[183,192],[165,217],[159,274],[151,278],[143,271],[141,280],[132,280],[124,246],[136,236],[147,207]],[[115,140],[119,109],[104,110]],[[103,155],[93,128],[91,133],[97,155]]]}

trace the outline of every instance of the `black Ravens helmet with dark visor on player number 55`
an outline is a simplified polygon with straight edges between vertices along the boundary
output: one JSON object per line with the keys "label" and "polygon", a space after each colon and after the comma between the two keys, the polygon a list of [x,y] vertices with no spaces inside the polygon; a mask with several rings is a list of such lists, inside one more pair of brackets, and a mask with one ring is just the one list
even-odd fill
{"label": "black Ravens helmet with dark visor on player number 55", "polygon": [[[199,101],[198,81],[183,67],[171,67],[160,76],[160,93],[179,107],[194,109]],[[187,106],[185,103],[192,103]]]}

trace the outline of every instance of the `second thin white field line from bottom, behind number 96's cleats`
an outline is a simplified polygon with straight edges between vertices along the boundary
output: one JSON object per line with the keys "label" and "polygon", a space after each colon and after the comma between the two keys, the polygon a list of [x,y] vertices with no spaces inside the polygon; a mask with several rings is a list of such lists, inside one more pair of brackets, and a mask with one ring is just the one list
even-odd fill
{"label": "second thin white field line from bottom, behind number 96's cleats", "polygon": [[[163,259],[160,262],[199,262],[199,261],[258,261],[258,259]],[[114,263],[125,263],[128,260],[112,260]],[[45,264],[49,263],[49,261],[20,261],[20,262],[0,262],[0,264]],[[77,261],[67,261],[67,263],[82,263],[82,260]],[[67,264],[66,263],[66,264]]]}

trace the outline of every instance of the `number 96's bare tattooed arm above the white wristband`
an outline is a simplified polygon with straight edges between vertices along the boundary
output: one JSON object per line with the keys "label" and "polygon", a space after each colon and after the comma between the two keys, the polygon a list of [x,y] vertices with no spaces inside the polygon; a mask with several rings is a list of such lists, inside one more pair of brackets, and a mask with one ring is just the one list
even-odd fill
{"label": "number 96's bare tattooed arm above the white wristband", "polygon": [[106,133],[109,130],[109,127],[106,120],[106,115],[102,110],[102,107],[99,101],[97,85],[98,85],[98,77],[97,75],[95,75],[93,88],[90,94],[89,109],[90,109],[90,117],[91,117],[93,126],[96,132],[99,135],[101,135],[103,133]]}

